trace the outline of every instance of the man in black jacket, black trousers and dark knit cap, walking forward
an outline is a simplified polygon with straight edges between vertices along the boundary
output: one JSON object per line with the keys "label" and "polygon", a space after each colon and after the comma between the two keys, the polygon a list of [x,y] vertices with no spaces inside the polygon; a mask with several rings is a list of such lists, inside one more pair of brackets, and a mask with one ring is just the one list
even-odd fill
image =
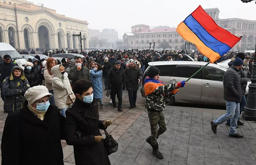
{"label": "man in black jacket, black trousers and dark knit cap, walking forward", "polygon": [[[114,107],[117,107],[118,111],[122,110],[122,89],[125,90],[126,76],[125,71],[121,67],[121,62],[115,62],[115,66],[112,67],[107,74],[107,88],[111,90],[110,95]],[[112,87],[112,88],[111,88]],[[122,88],[123,87],[123,88]],[[118,106],[115,102],[115,95],[117,95]]]}

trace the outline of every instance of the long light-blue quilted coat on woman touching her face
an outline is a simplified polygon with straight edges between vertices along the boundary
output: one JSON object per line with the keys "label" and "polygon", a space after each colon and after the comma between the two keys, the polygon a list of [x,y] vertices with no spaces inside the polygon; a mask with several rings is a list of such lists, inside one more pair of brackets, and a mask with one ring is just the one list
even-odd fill
{"label": "long light-blue quilted coat on woman touching her face", "polygon": [[102,70],[91,70],[91,82],[93,83],[94,98],[103,98]]}

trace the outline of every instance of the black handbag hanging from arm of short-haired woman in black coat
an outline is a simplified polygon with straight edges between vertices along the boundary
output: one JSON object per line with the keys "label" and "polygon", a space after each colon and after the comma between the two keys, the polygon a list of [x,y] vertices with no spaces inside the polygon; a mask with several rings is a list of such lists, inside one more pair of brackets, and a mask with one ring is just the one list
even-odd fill
{"label": "black handbag hanging from arm of short-haired woman in black coat", "polygon": [[104,132],[106,135],[106,138],[103,139],[104,148],[107,150],[107,155],[110,155],[111,153],[114,153],[117,151],[118,143],[116,142],[116,140],[114,140],[112,135],[109,135],[107,133],[107,130],[104,130]]}

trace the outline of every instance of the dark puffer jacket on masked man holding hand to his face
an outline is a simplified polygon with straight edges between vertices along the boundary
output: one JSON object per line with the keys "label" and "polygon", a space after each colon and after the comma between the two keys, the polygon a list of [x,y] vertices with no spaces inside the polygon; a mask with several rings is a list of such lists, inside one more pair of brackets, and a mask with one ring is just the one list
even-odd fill
{"label": "dark puffer jacket on masked man holding hand to his face", "polygon": [[68,78],[72,81],[72,84],[74,84],[79,79],[85,79],[85,80],[91,80],[90,71],[87,67],[84,67],[82,65],[82,69],[79,71],[76,69],[76,66],[70,69],[70,74]]}

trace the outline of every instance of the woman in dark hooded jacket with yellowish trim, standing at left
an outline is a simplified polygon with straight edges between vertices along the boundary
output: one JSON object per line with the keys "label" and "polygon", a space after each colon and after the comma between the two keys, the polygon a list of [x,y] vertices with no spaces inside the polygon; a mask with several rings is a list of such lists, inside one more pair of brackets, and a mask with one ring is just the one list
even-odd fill
{"label": "woman in dark hooded jacket with yellowish trim, standing at left", "polygon": [[24,105],[24,94],[30,87],[23,69],[18,66],[12,67],[11,76],[6,77],[2,84],[4,95],[4,113],[12,113],[20,110]]}

